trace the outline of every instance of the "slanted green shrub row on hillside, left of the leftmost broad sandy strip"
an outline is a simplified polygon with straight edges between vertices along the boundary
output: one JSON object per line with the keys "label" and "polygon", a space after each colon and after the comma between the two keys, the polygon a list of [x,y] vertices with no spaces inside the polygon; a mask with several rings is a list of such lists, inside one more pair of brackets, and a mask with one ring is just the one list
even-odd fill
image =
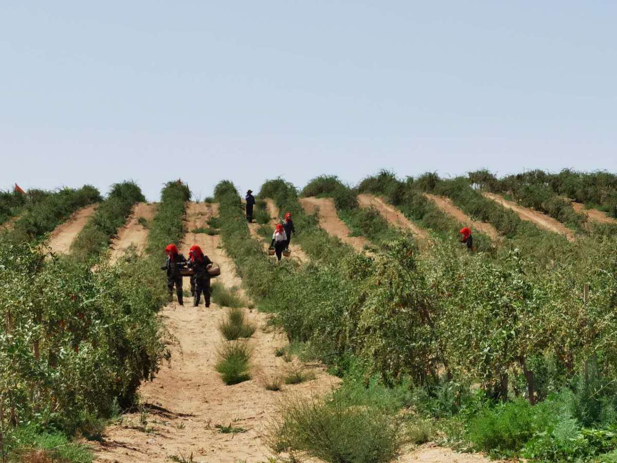
{"label": "slanted green shrub row on hillside, left of the leftmost broad sandy strip", "polygon": [[85,185],[78,190],[63,188],[41,201],[28,204],[9,236],[14,243],[35,240],[54,230],[80,207],[97,201],[101,201],[101,194],[94,186]]}

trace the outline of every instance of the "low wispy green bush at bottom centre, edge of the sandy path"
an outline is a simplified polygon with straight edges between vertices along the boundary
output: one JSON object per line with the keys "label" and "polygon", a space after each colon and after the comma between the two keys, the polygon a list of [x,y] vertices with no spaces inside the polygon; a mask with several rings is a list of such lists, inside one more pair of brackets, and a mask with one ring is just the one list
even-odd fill
{"label": "low wispy green bush at bottom centre, edge of the sandy path", "polygon": [[324,399],[287,396],[267,443],[276,453],[301,452],[329,462],[388,462],[402,444],[399,426],[395,415],[345,393]]}

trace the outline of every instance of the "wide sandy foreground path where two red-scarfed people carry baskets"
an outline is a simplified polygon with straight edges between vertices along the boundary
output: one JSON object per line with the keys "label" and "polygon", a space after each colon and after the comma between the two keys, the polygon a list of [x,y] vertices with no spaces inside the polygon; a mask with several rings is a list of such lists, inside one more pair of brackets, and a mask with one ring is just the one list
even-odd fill
{"label": "wide sandy foreground path where two red-scarfed people carry baskets", "polygon": [[[188,230],[204,225],[210,215],[218,213],[217,204],[190,203]],[[219,248],[220,236],[188,233],[181,250],[188,254],[191,244],[199,244],[212,261],[221,266],[217,278],[226,286],[241,284],[234,264]],[[185,255],[186,255],[185,254]],[[185,289],[189,288],[184,278]],[[323,394],[339,383],[320,365],[310,365],[315,380],[286,386],[280,392],[267,391],[264,378],[282,374],[290,364],[275,356],[284,346],[286,336],[267,328],[267,315],[246,309],[247,319],[258,328],[250,342],[254,346],[252,379],[226,386],[215,371],[217,346],[222,343],[217,324],[225,310],[217,304],[209,308],[184,307],[172,302],[161,316],[168,330],[177,338],[170,346],[172,360],[165,364],[153,382],[139,388],[143,413],[125,415],[122,423],[107,428],[104,443],[97,444],[99,462],[169,462],[249,463],[267,461],[270,450],[262,440],[269,420],[285,394]],[[145,422],[145,423],[144,423]],[[246,432],[222,434],[215,425],[233,425]]]}

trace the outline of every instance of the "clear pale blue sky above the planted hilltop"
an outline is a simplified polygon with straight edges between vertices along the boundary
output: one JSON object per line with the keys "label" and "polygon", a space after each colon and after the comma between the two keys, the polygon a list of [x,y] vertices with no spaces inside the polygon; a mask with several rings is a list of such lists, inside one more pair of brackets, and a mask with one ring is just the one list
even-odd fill
{"label": "clear pale blue sky above the planted hilltop", "polygon": [[614,1],[2,1],[0,189],[617,172]]}

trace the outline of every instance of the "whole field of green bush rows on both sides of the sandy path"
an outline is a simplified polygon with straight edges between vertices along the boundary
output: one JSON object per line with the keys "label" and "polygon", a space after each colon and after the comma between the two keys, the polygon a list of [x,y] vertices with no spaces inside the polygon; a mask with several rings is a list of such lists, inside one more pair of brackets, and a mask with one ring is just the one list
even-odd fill
{"label": "whole field of green bush rows on both sides of the sandy path", "polygon": [[[482,170],[449,179],[383,171],[354,186],[323,175],[302,189],[265,181],[255,211],[260,236],[271,234],[263,202],[270,198],[291,212],[304,264],[268,257],[249,233],[236,186],[218,183],[208,201],[218,202],[220,217],[210,227],[247,294],[286,334],[288,351],[343,378],[326,396],[286,401],[273,417],[270,448],[387,462],[405,444],[436,441],[492,457],[617,461],[617,229],[590,226],[568,200],[615,216],[616,178],[569,170],[497,178]],[[524,222],[482,191],[551,215],[576,241]],[[359,207],[358,193],[400,209],[429,231],[428,246]],[[502,239],[474,231],[476,252],[468,252],[458,234],[465,224],[424,193],[450,198]],[[302,196],[333,198],[371,254],[329,236]],[[139,383],[168,357],[156,316],[166,300],[160,250],[183,235],[189,198],[188,186],[167,183],[146,253],[110,265],[109,240],[144,201],[135,183],[115,184],[104,198],[89,186],[0,195],[2,217],[19,217],[0,233],[5,452],[44,448],[60,461],[88,461],[73,436],[100,437],[106,420],[135,405]],[[49,258],[33,245],[93,202],[97,212],[70,254]],[[242,337],[231,328],[226,336]],[[227,367],[218,365],[223,376]]]}

